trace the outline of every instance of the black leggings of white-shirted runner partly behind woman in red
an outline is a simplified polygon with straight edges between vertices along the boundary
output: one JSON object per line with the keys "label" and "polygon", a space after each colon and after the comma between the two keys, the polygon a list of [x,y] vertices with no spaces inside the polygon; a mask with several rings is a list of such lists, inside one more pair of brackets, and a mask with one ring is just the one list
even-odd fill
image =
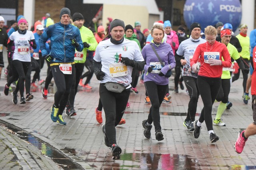
{"label": "black leggings of white-shirted runner partly behind woman in red", "polygon": [[185,121],[194,121],[196,117],[196,108],[199,98],[199,90],[197,86],[197,78],[191,76],[183,76],[184,83],[189,93],[189,102],[188,102],[188,114]]}

